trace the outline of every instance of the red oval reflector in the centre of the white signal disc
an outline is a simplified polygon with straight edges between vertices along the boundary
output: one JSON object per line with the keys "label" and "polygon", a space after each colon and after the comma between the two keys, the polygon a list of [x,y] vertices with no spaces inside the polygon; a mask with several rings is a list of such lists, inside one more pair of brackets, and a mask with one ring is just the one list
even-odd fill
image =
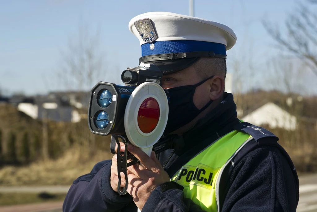
{"label": "red oval reflector in the centre of the white signal disc", "polygon": [[154,98],[144,100],[138,112],[138,125],[143,133],[151,133],[159,123],[159,103]]}

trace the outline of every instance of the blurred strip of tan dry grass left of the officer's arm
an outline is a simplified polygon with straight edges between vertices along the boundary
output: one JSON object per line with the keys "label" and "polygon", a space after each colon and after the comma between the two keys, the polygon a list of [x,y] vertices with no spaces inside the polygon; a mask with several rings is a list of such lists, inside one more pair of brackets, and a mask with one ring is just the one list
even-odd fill
{"label": "blurred strip of tan dry grass left of the officer's arm", "polygon": [[5,166],[0,169],[0,186],[70,185],[79,176],[87,174],[94,165],[111,159],[110,152],[72,147],[57,160],[37,161],[28,166]]}

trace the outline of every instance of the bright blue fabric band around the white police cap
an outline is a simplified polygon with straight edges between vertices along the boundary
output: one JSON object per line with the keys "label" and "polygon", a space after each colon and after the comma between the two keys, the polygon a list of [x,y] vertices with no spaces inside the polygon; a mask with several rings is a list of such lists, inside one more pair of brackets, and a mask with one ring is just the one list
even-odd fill
{"label": "bright blue fabric band around the white police cap", "polygon": [[[153,47],[154,44],[154,47]],[[142,44],[142,57],[153,54],[170,54],[193,51],[213,51],[215,54],[226,54],[226,46],[219,43],[211,43],[196,40],[172,40],[172,41],[156,41],[152,43]],[[152,49],[152,50],[151,50]]]}

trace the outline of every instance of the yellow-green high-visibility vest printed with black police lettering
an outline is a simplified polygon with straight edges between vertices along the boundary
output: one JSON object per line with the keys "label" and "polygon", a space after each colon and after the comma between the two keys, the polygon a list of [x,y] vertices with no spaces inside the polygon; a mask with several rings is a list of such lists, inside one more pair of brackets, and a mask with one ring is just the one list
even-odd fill
{"label": "yellow-green high-visibility vest printed with black police lettering", "polygon": [[188,161],[171,181],[184,186],[184,198],[190,198],[205,211],[219,211],[219,183],[223,168],[253,137],[232,131]]}

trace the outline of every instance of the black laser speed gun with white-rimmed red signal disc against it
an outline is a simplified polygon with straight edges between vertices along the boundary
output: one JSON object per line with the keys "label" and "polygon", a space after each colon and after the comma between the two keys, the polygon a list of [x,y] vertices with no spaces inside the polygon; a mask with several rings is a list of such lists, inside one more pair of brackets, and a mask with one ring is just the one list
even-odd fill
{"label": "black laser speed gun with white-rimmed red signal disc against it", "polygon": [[[175,136],[162,136],[168,118],[168,97],[160,86],[162,76],[156,65],[141,63],[122,72],[121,80],[125,85],[99,82],[91,90],[88,126],[92,133],[112,134],[110,151],[118,156],[118,176],[123,172],[126,179],[125,188],[121,188],[119,178],[120,195],[127,190],[126,168],[139,162],[127,152],[128,142],[149,156],[153,146],[156,154],[172,148]],[[124,153],[120,153],[119,142],[126,147]]]}

